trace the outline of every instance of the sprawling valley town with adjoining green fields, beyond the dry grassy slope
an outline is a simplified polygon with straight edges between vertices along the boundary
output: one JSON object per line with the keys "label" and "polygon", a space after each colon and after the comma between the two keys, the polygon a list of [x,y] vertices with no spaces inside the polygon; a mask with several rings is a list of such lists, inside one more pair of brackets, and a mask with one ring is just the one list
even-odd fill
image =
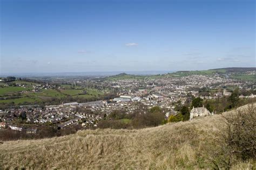
{"label": "sprawling valley town with adjoining green fields, beyond the dry grassy slope", "polygon": [[[255,73],[255,69],[246,71],[248,75],[255,76]],[[41,126],[53,126],[64,130],[73,126],[79,126],[78,129],[96,129],[101,127],[98,127],[100,121],[111,119],[110,115],[113,111],[118,110],[123,114],[132,115],[136,114],[142,105],[148,110],[159,107],[168,121],[170,116],[179,114],[182,106],[193,112],[190,103],[195,98],[200,98],[202,104],[198,107],[206,107],[209,115],[227,110],[228,106],[223,105],[223,101],[227,101],[235,89],[239,90],[241,101],[255,101],[256,98],[255,81],[232,79],[219,73],[180,77],[173,73],[172,76],[139,76],[136,79],[134,77],[122,79],[122,76],[127,75],[75,77],[76,81],[72,82],[71,79],[66,81],[71,83],[65,84],[63,81],[66,78],[62,82],[59,82],[59,79],[56,82],[54,80],[40,82],[33,79],[16,80],[15,77],[3,78],[1,90],[12,88],[14,91],[2,94],[0,128],[25,131],[26,134],[37,133]],[[112,80],[113,77],[119,79]],[[98,96],[80,97],[89,94]],[[23,95],[25,99],[34,97],[33,102],[5,103],[17,96],[17,99],[21,100]],[[36,98],[37,96],[41,97]],[[42,100],[44,98],[46,100]],[[69,102],[64,103],[67,98]],[[193,115],[200,114],[198,112]],[[192,118],[193,116],[190,119]]]}

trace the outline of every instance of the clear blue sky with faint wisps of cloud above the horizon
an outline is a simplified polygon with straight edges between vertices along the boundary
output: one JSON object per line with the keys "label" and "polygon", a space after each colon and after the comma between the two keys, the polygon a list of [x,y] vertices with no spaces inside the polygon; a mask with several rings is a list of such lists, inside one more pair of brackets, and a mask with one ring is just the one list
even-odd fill
{"label": "clear blue sky with faint wisps of cloud above the horizon", "polygon": [[0,5],[0,74],[256,67],[255,1]]}

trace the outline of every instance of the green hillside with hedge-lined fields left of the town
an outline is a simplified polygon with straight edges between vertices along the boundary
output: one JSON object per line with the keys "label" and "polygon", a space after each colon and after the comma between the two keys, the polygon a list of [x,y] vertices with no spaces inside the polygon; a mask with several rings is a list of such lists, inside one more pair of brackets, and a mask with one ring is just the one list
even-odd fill
{"label": "green hillside with hedge-lined fields left of the town", "polygon": [[[0,108],[11,105],[28,104],[59,104],[62,101],[93,101],[102,97],[102,91],[97,89],[87,90],[84,86],[72,86],[71,84],[58,84],[59,88],[45,88],[46,82],[42,84],[30,81],[11,81],[0,83]],[[36,87],[36,85],[38,85]],[[85,94],[86,91],[86,94]]]}

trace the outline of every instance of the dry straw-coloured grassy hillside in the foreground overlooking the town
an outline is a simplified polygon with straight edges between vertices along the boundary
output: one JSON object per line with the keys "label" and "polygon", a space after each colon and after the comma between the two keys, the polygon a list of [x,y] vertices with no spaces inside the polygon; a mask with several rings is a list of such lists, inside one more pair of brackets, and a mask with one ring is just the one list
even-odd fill
{"label": "dry straw-coloured grassy hillside in the foreground overlooking the town", "polygon": [[[225,125],[223,116],[214,115],[141,130],[98,129],[51,139],[8,141],[0,144],[0,168],[217,168],[223,159],[219,151]],[[252,166],[253,161],[237,161],[232,169]]]}

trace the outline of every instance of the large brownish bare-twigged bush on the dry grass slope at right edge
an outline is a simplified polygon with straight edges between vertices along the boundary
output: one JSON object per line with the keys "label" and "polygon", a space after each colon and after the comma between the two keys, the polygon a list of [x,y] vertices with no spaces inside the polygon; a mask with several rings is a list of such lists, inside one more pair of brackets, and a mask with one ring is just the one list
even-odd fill
{"label": "large brownish bare-twigged bush on the dry grass slope at right edge", "polygon": [[256,107],[248,105],[244,110],[236,110],[225,116],[227,134],[225,136],[227,154],[242,160],[256,158]]}

